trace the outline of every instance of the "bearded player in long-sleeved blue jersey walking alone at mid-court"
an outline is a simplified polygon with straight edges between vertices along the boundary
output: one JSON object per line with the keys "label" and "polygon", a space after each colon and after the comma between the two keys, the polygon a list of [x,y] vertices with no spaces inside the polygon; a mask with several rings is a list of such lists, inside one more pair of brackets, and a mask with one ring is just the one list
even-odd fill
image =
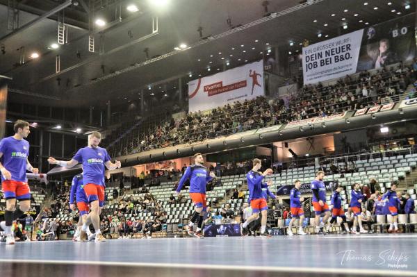
{"label": "bearded player in long-sleeved blue jersey walking alone at mid-court", "polygon": [[[195,212],[190,219],[190,222],[186,226],[188,235],[194,235],[195,237],[202,238],[202,224],[204,219],[204,213],[207,209],[206,202],[206,184],[215,178],[215,174],[211,172],[208,174],[208,170],[204,167],[204,158],[201,153],[196,153],[194,156],[194,165],[187,167],[184,175],[178,183],[176,193],[179,194],[184,183],[190,179],[190,199],[195,205]],[[197,228],[195,232],[193,230],[195,223],[197,222]]]}

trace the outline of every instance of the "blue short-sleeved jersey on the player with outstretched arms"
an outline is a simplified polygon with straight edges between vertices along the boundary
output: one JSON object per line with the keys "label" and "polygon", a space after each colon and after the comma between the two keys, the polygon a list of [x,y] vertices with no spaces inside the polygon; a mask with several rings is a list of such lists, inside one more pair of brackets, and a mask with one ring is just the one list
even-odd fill
{"label": "blue short-sleeved jersey on the player with outstretched arms", "polygon": [[79,149],[72,158],[83,164],[83,183],[104,186],[104,164],[111,160],[106,149],[90,146]]}

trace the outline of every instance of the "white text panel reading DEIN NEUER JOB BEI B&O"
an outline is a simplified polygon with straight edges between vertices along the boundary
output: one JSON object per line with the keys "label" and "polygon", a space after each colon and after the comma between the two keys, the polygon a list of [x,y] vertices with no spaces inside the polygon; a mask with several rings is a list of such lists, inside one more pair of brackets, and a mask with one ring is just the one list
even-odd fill
{"label": "white text panel reading DEIN NEUER JOB BEI B&O", "polygon": [[304,85],[357,72],[363,29],[302,49]]}

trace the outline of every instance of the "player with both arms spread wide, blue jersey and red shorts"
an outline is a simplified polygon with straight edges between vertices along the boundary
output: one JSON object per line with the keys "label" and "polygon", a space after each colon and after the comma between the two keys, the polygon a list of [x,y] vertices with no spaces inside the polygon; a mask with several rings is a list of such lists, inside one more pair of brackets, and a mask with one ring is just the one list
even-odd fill
{"label": "player with both arms spread wide, blue jersey and red shorts", "polygon": [[[92,132],[88,137],[88,146],[79,149],[75,156],[69,162],[56,160],[49,157],[48,162],[52,165],[60,165],[61,167],[74,167],[81,162],[83,164],[83,183],[84,191],[90,203],[90,219],[95,228],[95,241],[105,242],[106,239],[100,231],[100,212],[104,205],[104,174],[105,168],[109,170],[121,167],[119,161],[111,162],[110,156],[106,149],[99,147],[101,141],[101,133]],[[81,229],[81,237],[85,237],[88,226],[83,224]]]}

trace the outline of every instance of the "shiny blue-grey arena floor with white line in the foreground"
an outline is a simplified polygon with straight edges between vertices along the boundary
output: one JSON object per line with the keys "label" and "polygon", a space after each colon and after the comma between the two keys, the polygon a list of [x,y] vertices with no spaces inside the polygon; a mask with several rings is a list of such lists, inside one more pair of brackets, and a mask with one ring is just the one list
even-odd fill
{"label": "shiny blue-grey arena floor with white line in the foreground", "polygon": [[417,235],[22,242],[2,276],[417,276]]}

